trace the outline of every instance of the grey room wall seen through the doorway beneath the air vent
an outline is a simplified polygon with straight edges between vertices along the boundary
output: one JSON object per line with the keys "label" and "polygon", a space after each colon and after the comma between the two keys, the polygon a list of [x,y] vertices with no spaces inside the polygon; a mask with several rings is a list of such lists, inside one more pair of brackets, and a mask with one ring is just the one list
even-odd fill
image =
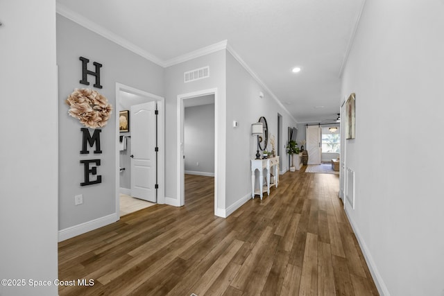
{"label": "grey room wall seen through the doorway beneath the air vent", "polygon": [[185,107],[185,172],[214,175],[214,103]]}

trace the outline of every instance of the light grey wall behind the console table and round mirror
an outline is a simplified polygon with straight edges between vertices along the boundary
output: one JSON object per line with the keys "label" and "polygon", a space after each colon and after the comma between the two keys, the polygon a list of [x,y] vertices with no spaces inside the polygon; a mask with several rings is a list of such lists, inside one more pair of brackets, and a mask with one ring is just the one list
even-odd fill
{"label": "light grey wall behind the console table and round mirror", "polygon": [[[259,98],[259,92],[264,98]],[[283,143],[287,140],[287,128],[296,126],[288,112],[280,107],[253,76],[239,64],[231,53],[227,53],[227,209],[251,198],[250,159],[255,158],[257,141],[251,136],[251,124],[266,118],[268,134],[278,139],[278,113],[282,115]],[[232,127],[237,121],[239,126]],[[276,148],[278,143],[276,143]],[[282,145],[284,146],[284,145]],[[268,141],[267,150],[271,150]],[[282,168],[288,169],[288,155],[282,147]]]}

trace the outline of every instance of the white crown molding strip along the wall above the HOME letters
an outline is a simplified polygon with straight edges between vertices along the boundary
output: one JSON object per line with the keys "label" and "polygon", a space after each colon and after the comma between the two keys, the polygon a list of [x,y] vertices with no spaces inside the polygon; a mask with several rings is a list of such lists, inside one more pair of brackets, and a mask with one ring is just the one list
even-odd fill
{"label": "white crown molding strip along the wall above the HOME letters", "polygon": [[150,60],[151,62],[158,64],[161,67],[164,67],[164,61],[161,60],[160,58],[157,58],[155,55],[148,53],[148,51],[144,51],[144,49],[141,49],[139,46],[136,46],[132,42],[129,42],[128,40],[120,37],[119,35],[103,28],[103,26],[99,26],[93,21],[86,19],[82,15],[79,15],[78,13],[70,10],[66,6],[60,3],[56,3],[56,12],[59,15],[66,17],[67,19],[71,19],[71,21],[74,21],[80,26],[83,26],[88,30],[101,35],[102,37],[105,37],[106,39],[111,40],[116,44],[119,44],[123,48],[128,49],[128,51],[133,51],[133,53],[137,53],[138,55],[142,56],[142,58],[146,58],[146,60]]}

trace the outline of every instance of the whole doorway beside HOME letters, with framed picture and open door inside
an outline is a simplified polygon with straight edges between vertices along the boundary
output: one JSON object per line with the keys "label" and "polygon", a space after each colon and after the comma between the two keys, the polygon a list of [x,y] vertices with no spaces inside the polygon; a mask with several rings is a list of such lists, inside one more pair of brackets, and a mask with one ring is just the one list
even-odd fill
{"label": "whole doorway beside HOME letters, with framed picture and open door inside", "polygon": [[164,98],[116,83],[114,112],[120,217],[164,203]]}

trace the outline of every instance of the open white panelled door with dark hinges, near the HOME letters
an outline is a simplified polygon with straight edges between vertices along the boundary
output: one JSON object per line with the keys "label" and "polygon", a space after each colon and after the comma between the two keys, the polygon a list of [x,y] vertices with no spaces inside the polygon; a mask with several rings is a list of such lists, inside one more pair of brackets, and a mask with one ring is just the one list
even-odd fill
{"label": "open white panelled door with dark hinges, near the HOME letters", "polygon": [[156,202],[156,103],[131,106],[131,195]]}

